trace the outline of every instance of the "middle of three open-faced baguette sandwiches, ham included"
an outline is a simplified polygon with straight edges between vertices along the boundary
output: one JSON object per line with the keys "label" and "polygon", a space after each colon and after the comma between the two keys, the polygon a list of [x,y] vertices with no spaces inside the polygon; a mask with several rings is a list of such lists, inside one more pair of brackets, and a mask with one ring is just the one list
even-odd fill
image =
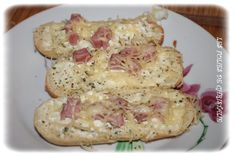
{"label": "middle of three open-faced baguette sandwiches, ham included", "polygon": [[[182,56],[174,48],[132,46],[112,52],[82,49],[47,70],[46,89],[53,97],[89,90],[165,87],[182,84]],[[87,56],[87,57],[85,57]]]}

